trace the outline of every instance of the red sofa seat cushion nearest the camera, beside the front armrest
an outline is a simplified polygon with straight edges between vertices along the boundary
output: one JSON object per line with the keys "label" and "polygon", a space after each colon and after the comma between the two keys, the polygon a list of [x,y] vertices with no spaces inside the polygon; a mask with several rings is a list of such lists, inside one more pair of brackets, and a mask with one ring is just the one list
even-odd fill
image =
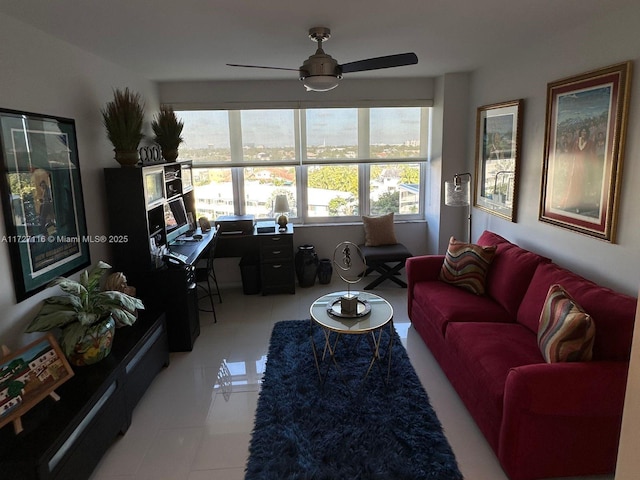
{"label": "red sofa seat cushion nearest the camera, beside the front armrest", "polygon": [[498,438],[504,388],[514,367],[544,364],[536,336],[517,323],[450,323],[446,343],[459,360],[455,385],[488,439]]}

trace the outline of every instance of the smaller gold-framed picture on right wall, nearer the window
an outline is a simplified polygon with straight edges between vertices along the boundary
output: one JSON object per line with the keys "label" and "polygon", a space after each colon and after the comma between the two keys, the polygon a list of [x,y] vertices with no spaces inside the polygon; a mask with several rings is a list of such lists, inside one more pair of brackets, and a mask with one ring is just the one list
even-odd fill
{"label": "smaller gold-framed picture on right wall, nearer the window", "polygon": [[476,115],[473,205],[511,222],[518,205],[523,104],[520,99],[485,105]]}

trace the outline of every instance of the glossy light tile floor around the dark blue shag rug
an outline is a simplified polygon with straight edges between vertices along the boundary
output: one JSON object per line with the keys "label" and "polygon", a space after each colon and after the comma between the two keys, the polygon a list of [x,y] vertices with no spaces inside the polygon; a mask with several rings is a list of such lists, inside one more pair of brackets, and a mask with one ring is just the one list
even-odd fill
{"label": "glossy light tile floor around the dark blue shag rug", "polygon": [[[507,480],[484,437],[407,317],[406,290],[374,293],[394,308],[394,323],[429,394],[466,480]],[[253,428],[273,324],[309,318],[309,306],[343,284],[298,288],[295,295],[223,288],[213,315],[201,313],[192,352],[172,353],[91,480],[240,480]],[[222,368],[221,368],[222,367]],[[612,476],[588,477],[590,480]],[[274,479],[277,480],[277,479]],[[340,479],[342,480],[342,479]],[[567,480],[567,479],[565,479]]]}

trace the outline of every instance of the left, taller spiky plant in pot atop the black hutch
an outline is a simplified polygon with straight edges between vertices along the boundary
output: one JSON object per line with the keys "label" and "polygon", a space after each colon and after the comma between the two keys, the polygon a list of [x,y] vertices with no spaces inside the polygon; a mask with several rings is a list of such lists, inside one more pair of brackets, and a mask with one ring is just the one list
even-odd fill
{"label": "left, taller spiky plant in pot atop the black hutch", "polygon": [[144,138],[144,103],[140,94],[129,88],[115,89],[113,100],[104,106],[101,113],[116,160],[122,166],[134,166],[139,159],[138,145]]}

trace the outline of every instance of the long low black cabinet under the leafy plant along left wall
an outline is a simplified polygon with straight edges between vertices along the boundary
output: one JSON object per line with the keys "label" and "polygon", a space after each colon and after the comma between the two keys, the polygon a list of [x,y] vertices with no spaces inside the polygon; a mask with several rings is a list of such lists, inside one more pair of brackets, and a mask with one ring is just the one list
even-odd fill
{"label": "long low black cabinet under the leafy plant along left wall", "polygon": [[24,430],[0,429],[0,478],[86,480],[153,378],[169,364],[164,314],[149,310],[116,330],[111,354],[76,367],[58,402],[46,398],[22,417]]}

